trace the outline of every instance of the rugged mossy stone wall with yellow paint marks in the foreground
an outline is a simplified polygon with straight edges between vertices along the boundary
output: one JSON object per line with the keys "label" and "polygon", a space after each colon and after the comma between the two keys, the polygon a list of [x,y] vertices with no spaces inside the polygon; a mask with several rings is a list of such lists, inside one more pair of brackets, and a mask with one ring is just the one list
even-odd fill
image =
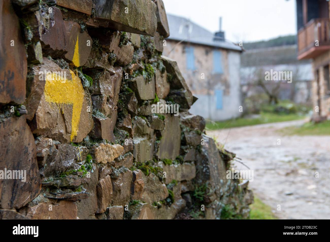
{"label": "rugged mossy stone wall with yellow paint marks in the foreground", "polygon": [[162,56],[161,0],[5,0],[0,31],[0,218],[248,218],[234,155]]}

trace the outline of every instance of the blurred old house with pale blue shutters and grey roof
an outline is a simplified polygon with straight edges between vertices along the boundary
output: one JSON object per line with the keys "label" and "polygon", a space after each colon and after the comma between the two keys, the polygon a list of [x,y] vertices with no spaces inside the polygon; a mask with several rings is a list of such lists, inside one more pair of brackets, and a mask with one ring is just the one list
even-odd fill
{"label": "blurred old house with pale blue shutters and grey roof", "polygon": [[163,55],[177,60],[182,75],[198,100],[190,112],[209,120],[239,117],[240,54],[242,48],[189,21],[167,15],[170,36]]}

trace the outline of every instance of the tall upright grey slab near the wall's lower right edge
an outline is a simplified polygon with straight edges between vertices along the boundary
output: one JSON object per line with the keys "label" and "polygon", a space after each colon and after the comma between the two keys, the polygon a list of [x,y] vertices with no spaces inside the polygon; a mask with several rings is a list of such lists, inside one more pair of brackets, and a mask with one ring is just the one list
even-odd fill
{"label": "tall upright grey slab near the wall's lower right edge", "polygon": [[226,167],[221,160],[218,149],[212,138],[202,135],[205,144],[201,147],[201,152],[196,151],[196,178],[197,184],[202,185],[209,183],[209,188],[213,191],[209,197],[214,193],[220,196],[221,187],[227,182]]}

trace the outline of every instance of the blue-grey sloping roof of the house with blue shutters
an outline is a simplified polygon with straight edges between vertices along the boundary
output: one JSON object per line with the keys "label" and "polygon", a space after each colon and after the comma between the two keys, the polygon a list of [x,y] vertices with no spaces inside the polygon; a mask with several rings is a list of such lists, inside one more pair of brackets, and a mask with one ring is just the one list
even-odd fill
{"label": "blue-grey sloping roof of the house with blue shutters", "polygon": [[191,22],[186,18],[167,14],[167,21],[170,28],[170,36],[167,38],[169,40],[183,40],[184,42],[243,51],[240,46],[234,44],[233,42],[227,40],[214,40],[214,38],[216,38],[214,33],[204,29],[203,27]]}

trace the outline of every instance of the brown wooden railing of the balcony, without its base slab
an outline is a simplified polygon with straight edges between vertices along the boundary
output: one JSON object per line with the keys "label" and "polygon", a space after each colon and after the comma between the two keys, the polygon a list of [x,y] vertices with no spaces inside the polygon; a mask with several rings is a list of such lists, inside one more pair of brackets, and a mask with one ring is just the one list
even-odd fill
{"label": "brown wooden railing of the balcony, without its base slab", "polygon": [[298,55],[318,45],[329,45],[329,18],[315,18],[298,31]]}

